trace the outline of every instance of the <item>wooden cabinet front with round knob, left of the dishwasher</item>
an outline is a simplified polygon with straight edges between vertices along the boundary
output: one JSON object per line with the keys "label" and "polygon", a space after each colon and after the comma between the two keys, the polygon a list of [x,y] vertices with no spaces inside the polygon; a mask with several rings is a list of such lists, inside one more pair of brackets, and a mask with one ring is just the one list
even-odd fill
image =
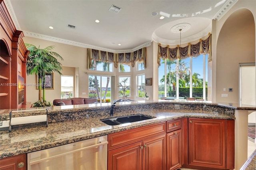
{"label": "wooden cabinet front with round knob, left of the dishwasher", "polygon": [[0,170],[26,170],[26,154],[0,159]]}

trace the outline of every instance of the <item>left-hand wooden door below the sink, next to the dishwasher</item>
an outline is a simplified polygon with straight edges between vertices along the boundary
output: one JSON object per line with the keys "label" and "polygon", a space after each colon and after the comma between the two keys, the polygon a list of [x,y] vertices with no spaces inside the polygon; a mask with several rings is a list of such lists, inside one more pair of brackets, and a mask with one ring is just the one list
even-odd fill
{"label": "left-hand wooden door below the sink, next to the dishwasher", "polygon": [[108,170],[142,170],[142,142],[108,152]]}

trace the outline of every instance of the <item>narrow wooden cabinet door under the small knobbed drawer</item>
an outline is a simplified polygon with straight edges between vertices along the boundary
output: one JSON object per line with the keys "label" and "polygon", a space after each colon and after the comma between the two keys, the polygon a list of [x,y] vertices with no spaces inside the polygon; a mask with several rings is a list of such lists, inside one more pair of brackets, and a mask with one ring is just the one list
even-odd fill
{"label": "narrow wooden cabinet door under the small knobbed drawer", "polygon": [[176,170],[181,163],[181,129],[166,134],[167,136],[167,170]]}

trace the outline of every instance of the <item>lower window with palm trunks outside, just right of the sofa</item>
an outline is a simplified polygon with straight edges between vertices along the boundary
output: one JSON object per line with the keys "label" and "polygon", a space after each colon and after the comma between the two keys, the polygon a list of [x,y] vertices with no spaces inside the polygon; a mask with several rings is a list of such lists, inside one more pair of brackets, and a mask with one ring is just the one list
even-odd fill
{"label": "lower window with palm trunks outside, just right of the sofa", "polygon": [[109,76],[89,75],[89,98],[96,98],[100,103],[111,102],[110,84]]}

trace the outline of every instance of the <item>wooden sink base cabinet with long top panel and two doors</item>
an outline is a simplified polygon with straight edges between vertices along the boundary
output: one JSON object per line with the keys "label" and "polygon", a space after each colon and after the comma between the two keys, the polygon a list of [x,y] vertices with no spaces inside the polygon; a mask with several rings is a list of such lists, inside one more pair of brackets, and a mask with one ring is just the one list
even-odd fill
{"label": "wooden sink base cabinet with long top panel and two doors", "polygon": [[108,170],[166,169],[166,126],[158,123],[108,135]]}

